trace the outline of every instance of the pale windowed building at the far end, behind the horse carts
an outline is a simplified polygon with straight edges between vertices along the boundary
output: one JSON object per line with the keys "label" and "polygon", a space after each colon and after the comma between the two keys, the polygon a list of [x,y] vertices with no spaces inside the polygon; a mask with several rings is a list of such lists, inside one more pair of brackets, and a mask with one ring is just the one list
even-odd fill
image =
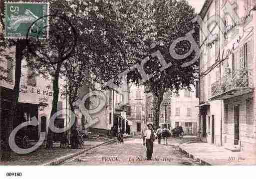
{"label": "pale windowed building at the far end, behind the horse carts", "polygon": [[[196,97],[195,87],[192,90],[180,90],[178,93],[167,91],[160,106],[159,125],[161,128],[167,123],[170,129],[182,126],[184,135],[197,134],[197,117],[199,99]],[[153,122],[152,93],[146,93],[146,121]]]}

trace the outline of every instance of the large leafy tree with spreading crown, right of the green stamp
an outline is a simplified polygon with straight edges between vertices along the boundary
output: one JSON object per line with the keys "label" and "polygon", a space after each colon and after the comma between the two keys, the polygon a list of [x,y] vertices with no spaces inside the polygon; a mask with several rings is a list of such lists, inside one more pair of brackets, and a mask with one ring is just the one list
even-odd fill
{"label": "large leafy tree with spreading crown, right of the green stamp", "polygon": [[[86,72],[96,76],[96,79],[102,83],[127,69],[131,64],[129,58],[138,53],[137,46],[141,43],[137,38],[137,24],[131,24],[138,18],[138,13],[133,7],[143,8],[143,3],[140,0],[51,0],[50,2],[52,16],[50,16],[49,39],[39,42],[31,40],[30,44],[33,44],[30,45],[32,49],[29,50],[31,56],[28,56],[27,60],[30,61],[29,65],[40,73],[53,76],[52,116],[57,110],[58,78],[61,73],[71,80],[68,83],[70,86],[67,87],[71,104],[77,98],[77,91],[81,85],[78,82],[86,82],[83,79]],[[59,17],[54,16],[58,13],[60,13]],[[76,45],[72,53],[70,46],[73,45],[74,37],[70,34],[73,31],[72,28],[61,28],[64,26],[62,17],[67,19],[76,31]],[[140,35],[142,36],[142,33]],[[66,51],[69,52],[68,55]],[[74,72],[80,73],[81,76]],[[75,81],[72,81],[73,79]],[[52,135],[51,131],[48,132],[47,148],[52,144]]]}

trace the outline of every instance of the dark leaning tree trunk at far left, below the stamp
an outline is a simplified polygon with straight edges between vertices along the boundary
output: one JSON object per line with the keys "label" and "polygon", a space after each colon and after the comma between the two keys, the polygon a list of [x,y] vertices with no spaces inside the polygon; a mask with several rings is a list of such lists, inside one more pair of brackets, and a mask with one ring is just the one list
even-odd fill
{"label": "dark leaning tree trunk at far left, below the stamp", "polygon": [[16,106],[18,103],[18,96],[19,96],[19,83],[21,77],[21,60],[23,59],[23,50],[25,48],[25,40],[19,40],[16,43],[15,49],[15,81],[14,87],[12,91],[12,98],[11,98],[11,111],[10,111],[10,118],[8,120],[7,129],[5,129],[5,140],[3,141],[3,151],[1,156],[1,161],[8,161],[10,160],[10,146],[11,144],[8,143],[8,139],[10,133],[12,132],[13,128],[13,121],[16,119]]}

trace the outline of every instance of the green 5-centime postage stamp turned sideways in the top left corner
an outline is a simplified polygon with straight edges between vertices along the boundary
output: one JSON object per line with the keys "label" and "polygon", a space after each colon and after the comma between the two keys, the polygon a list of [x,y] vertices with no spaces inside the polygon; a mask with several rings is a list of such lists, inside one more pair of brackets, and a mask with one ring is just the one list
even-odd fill
{"label": "green 5-centime postage stamp turned sideways in the top left corner", "polygon": [[5,2],[5,38],[48,37],[48,2]]}

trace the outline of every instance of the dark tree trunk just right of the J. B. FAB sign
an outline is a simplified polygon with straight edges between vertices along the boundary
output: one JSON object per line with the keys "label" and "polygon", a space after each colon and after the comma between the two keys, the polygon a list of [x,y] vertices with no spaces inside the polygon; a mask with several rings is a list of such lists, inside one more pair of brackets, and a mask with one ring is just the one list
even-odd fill
{"label": "dark tree trunk just right of the J. B. FAB sign", "polygon": [[[59,73],[60,73],[61,65],[62,65],[62,62],[57,63],[56,71],[53,76],[53,82],[52,82],[53,99],[52,99],[52,108],[51,108],[50,116],[53,116],[58,110],[57,107],[58,107],[58,98],[59,98]],[[50,130],[50,128],[48,128],[46,149],[52,149],[53,136],[54,136],[54,133]]]}

